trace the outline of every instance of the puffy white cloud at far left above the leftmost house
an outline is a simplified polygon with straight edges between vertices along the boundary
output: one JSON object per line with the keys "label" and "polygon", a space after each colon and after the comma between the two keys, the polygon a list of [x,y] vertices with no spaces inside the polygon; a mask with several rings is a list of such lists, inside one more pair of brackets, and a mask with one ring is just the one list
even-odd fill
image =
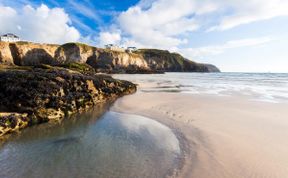
{"label": "puffy white cloud at far left above the leftmost house", "polygon": [[61,8],[29,5],[16,10],[0,6],[0,33],[15,33],[23,40],[45,43],[78,41],[80,33],[70,25],[68,14]]}

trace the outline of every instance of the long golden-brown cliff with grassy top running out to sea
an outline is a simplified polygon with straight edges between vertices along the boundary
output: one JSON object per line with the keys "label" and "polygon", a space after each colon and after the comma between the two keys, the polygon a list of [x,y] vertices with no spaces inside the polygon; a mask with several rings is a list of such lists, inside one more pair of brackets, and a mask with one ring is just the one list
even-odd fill
{"label": "long golden-brown cliff with grassy top running out to sea", "polygon": [[141,49],[134,53],[117,52],[81,43],[64,45],[29,42],[0,42],[0,63],[20,66],[87,63],[97,72],[220,72],[211,64],[200,64],[177,53],[157,49]]}

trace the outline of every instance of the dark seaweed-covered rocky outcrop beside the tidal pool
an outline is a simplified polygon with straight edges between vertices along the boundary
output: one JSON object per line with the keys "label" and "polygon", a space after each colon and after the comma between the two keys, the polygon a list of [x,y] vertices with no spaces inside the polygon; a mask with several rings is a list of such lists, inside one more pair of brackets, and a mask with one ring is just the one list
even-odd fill
{"label": "dark seaweed-covered rocky outcrop beside the tidal pool", "polygon": [[88,65],[76,63],[63,67],[1,65],[0,83],[0,136],[136,91],[130,82],[95,74]]}

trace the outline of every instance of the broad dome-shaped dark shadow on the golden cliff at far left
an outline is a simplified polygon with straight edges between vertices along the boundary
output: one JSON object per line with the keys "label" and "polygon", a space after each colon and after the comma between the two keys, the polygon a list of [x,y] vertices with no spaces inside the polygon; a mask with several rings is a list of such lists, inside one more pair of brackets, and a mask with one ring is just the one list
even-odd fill
{"label": "broad dome-shaped dark shadow on the golden cliff at far left", "polygon": [[22,65],[34,66],[39,64],[56,65],[57,61],[42,48],[31,49],[23,57]]}

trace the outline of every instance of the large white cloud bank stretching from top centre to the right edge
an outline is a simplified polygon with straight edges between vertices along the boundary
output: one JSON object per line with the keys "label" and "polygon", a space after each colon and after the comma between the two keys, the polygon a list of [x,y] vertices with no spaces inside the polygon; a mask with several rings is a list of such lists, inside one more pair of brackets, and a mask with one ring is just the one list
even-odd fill
{"label": "large white cloud bank stretching from top centre to the right edge", "polygon": [[187,36],[198,30],[223,31],[286,15],[287,0],[141,0],[113,25],[123,44],[175,49],[191,43]]}

